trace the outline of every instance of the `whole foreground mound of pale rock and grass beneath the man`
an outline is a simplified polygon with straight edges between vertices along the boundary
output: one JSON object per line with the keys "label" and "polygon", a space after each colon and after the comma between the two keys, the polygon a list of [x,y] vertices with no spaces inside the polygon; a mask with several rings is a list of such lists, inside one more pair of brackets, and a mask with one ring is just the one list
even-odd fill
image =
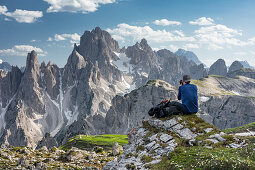
{"label": "whole foreground mound of pale rock and grass beneath the man", "polygon": [[[133,129],[123,154],[117,161],[107,163],[103,169],[189,169],[192,166],[204,169],[212,160],[216,164],[209,169],[221,167],[222,164],[230,168],[230,164],[224,162],[224,154],[228,153],[228,159],[235,160],[238,155],[230,153],[239,153],[237,151],[248,147],[248,143],[244,138],[221,132],[196,115],[152,118]],[[191,155],[194,159],[191,159]],[[186,158],[189,160],[186,161]],[[249,159],[237,159],[231,166],[240,164],[255,167],[254,160]],[[223,162],[217,164],[219,160]],[[206,166],[203,164],[205,162],[208,163]]]}

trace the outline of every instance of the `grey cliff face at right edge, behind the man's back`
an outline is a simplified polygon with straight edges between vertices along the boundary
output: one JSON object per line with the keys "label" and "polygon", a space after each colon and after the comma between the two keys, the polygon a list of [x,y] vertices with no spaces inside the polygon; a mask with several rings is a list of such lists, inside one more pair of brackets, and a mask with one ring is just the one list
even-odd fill
{"label": "grey cliff face at right edge, behind the man's back", "polygon": [[[217,108],[217,109],[216,109]],[[255,122],[254,97],[211,96],[200,104],[202,114],[211,116],[211,123],[220,129],[243,126]]]}

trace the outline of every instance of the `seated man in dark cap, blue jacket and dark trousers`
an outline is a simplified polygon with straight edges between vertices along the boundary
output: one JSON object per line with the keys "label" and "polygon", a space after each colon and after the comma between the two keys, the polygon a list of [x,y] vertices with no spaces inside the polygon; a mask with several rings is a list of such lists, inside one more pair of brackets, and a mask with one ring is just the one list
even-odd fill
{"label": "seated man in dark cap, blue jacket and dark trousers", "polygon": [[198,112],[197,86],[190,84],[190,76],[184,75],[180,81],[181,86],[178,90],[178,100],[182,103],[172,101],[167,104],[163,111],[167,115],[173,114],[192,114]]}

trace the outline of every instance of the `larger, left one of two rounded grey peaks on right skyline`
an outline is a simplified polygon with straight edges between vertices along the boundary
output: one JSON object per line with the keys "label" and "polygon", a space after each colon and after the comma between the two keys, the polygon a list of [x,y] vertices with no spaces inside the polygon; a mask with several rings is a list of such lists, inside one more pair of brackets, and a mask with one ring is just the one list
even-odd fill
{"label": "larger, left one of two rounded grey peaks on right skyline", "polygon": [[209,69],[209,75],[227,75],[227,66],[223,59],[218,59],[215,63],[213,63]]}

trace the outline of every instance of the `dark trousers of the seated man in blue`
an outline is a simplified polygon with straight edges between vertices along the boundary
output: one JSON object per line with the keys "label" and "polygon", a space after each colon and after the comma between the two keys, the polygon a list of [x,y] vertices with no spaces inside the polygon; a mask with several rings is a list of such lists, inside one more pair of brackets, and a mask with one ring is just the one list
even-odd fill
{"label": "dark trousers of the seated man in blue", "polygon": [[178,114],[190,114],[186,109],[185,106],[177,101],[170,102],[165,110],[170,113],[171,115],[178,115]]}

